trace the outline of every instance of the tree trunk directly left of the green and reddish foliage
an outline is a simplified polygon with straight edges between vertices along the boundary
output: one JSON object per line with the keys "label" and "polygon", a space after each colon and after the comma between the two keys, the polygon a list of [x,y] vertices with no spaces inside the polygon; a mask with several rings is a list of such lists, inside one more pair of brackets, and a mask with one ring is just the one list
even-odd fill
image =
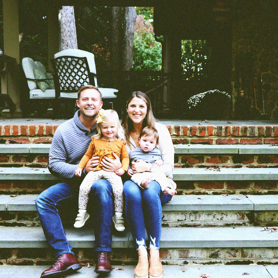
{"label": "tree trunk directly left of the green and reddish foliage", "polygon": [[136,20],[135,7],[125,7],[123,10],[123,40],[122,40],[122,69],[133,67],[134,25]]}

